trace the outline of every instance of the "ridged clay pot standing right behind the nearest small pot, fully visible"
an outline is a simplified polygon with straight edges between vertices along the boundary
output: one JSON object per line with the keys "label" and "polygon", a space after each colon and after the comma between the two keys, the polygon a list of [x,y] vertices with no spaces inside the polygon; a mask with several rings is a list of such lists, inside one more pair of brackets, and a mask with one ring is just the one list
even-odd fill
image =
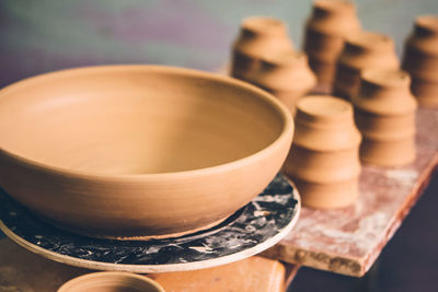
{"label": "ridged clay pot standing right behind the nearest small pot, fully visible", "polygon": [[415,112],[406,71],[367,69],[359,93],[353,96],[356,125],[364,140],[360,159],[380,166],[400,166],[415,160]]}

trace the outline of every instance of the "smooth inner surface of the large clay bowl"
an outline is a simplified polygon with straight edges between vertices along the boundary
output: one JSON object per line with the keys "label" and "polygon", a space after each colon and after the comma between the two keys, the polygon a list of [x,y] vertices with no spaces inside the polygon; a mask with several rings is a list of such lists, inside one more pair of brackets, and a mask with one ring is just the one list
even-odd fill
{"label": "smooth inner surface of the large clay bowl", "polygon": [[107,67],[50,73],[0,92],[0,149],[99,174],[217,166],[276,140],[285,118],[241,83],[191,70]]}

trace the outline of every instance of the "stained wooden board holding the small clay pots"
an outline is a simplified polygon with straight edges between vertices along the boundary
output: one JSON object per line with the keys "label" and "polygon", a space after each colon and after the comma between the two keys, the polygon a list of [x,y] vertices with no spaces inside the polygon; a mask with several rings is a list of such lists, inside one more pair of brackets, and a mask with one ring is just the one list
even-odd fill
{"label": "stained wooden board holding the small clay pots", "polygon": [[417,159],[405,167],[365,166],[360,197],[341,210],[302,208],[295,230],[265,256],[361,277],[374,262],[438,165],[438,109],[417,113]]}

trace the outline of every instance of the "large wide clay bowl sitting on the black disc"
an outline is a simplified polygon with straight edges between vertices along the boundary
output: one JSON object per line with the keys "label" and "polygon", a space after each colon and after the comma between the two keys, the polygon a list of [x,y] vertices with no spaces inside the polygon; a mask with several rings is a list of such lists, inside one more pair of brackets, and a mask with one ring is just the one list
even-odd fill
{"label": "large wide clay bowl sitting on the black disc", "polygon": [[0,186],[76,233],[176,235],[251,201],[292,133],[275,97],[230,78],[159,66],[65,70],[0,91]]}

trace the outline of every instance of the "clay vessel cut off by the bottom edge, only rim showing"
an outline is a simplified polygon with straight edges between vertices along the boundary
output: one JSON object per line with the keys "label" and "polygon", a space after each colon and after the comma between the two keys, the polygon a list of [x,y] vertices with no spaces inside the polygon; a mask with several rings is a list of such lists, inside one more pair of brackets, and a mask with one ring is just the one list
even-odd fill
{"label": "clay vessel cut off by the bottom edge, only rim showing", "polygon": [[164,292],[164,289],[146,276],[104,271],[74,278],[58,289],[58,292]]}

